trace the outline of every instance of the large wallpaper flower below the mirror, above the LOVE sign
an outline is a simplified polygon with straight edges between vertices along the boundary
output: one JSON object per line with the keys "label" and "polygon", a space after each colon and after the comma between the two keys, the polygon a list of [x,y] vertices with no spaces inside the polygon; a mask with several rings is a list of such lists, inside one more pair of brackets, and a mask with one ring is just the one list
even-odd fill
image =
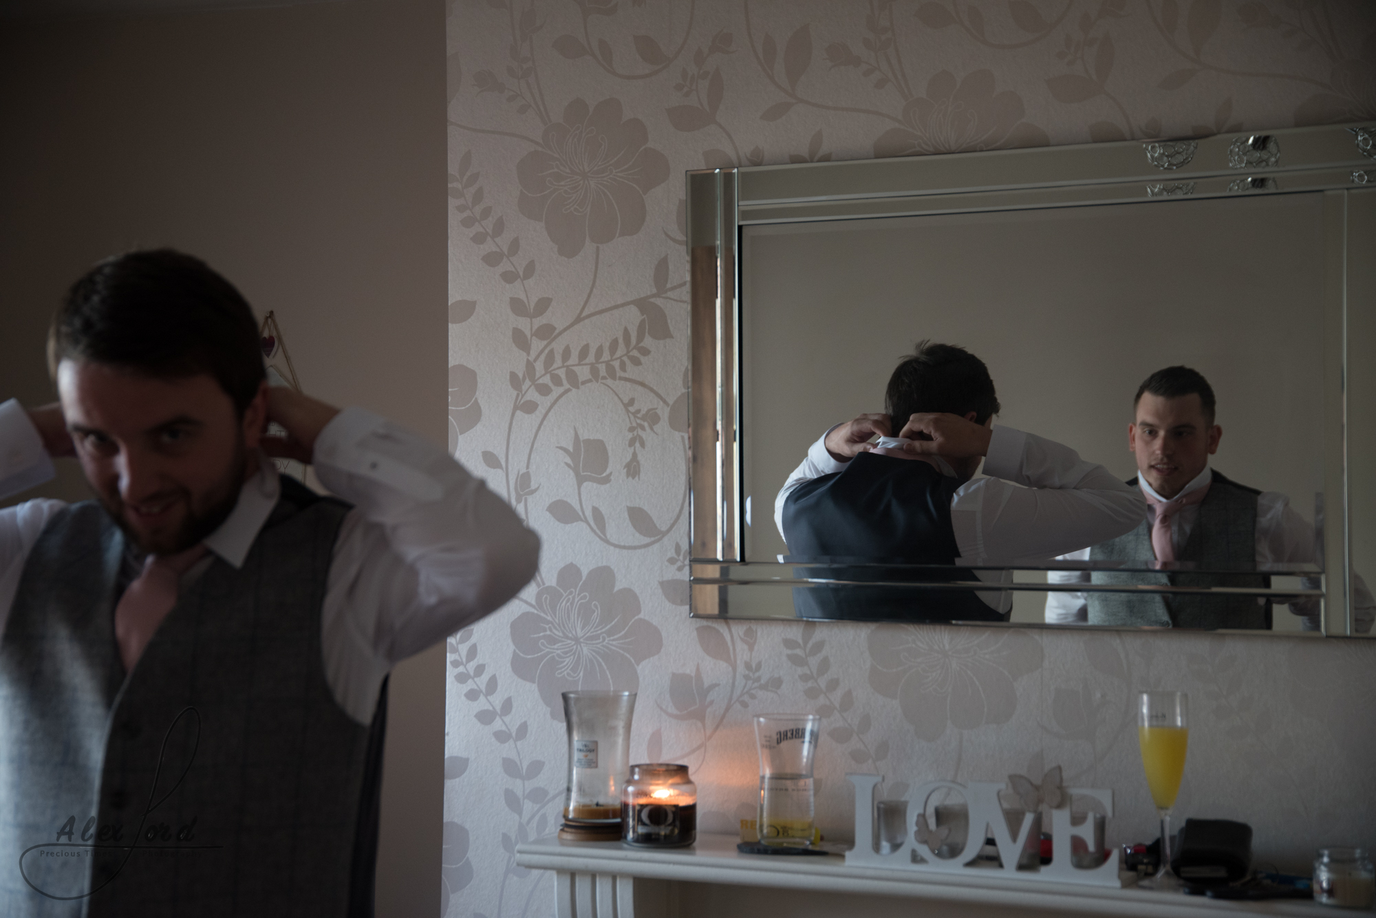
{"label": "large wallpaper flower below the mirror, above the LOVE sign", "polygon": [[1025,631],[882,625],[868,635],[870,686],[896,698],[919,739],[947,726],[1003,724],[1018,706],[1014,682],[1042,667],[1042,645]]}

